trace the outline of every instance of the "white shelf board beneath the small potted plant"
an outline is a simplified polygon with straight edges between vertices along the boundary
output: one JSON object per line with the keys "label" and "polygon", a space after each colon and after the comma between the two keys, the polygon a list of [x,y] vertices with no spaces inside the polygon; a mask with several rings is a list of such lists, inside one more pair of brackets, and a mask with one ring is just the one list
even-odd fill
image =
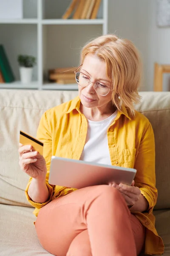
{"label": "white shelf board beneath the small potted plant", "polygon": [[38,89],[38,87],[37,81],[32,81],[31,84],[21,84],[20,81],[0,84],[0,89]]}

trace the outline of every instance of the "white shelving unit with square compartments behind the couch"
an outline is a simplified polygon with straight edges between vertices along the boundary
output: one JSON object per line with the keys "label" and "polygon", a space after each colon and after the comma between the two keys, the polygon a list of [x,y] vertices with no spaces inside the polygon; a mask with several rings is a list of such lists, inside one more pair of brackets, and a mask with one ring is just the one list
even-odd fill
{"label": "white shelving unit with square compartments behind the couch", "polygon": [[[23,19],[0,20],[3,44],[16,81],[0,88],[38,90],[77,90],[77,84],[49,83],[48,70],[77,67],[80,49],[91,38],[108,33],[108,0],[102,0],[98,17],[62,19],[71,0],[23,0]],[[20,82],[18,54],[34,55],[37,65],[31,84]]]}

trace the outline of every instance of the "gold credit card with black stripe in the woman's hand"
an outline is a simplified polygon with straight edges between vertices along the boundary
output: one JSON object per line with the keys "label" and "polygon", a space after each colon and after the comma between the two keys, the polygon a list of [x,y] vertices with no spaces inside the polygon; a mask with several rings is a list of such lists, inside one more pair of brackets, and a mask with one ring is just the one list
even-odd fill
{"label": "gold credit card with black stripe in the woman's hand", "polygon": [[31,145],[38,151],[41,155],[43,155],[43,143],[40,140],[37,140],[35,137],[32,137],[30,134],[27,134],[24,131],[20,131],[20,143],[23,145]]}

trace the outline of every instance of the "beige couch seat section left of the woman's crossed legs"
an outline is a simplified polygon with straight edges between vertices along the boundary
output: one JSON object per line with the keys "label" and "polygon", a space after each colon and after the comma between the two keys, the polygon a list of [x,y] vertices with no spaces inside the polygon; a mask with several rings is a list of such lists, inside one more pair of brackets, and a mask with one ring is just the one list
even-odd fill
{"label": "beige couch seat section left of the woman's crossed legs", "polygon": [[40,244],[32,207],[0,204],[0,256],[52,255]]}

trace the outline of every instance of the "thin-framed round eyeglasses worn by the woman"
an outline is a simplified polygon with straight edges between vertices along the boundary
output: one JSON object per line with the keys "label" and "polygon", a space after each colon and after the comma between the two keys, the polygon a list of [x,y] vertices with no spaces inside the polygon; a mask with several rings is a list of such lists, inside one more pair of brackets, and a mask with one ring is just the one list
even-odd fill
{"label": "thin-framed round eyeglasses worn by the woman", "polygon": [[[82,66],[82,65],[81,65]],[[81,67],[79,66],[79,67]],[[79,67],[77,68],[77,70],[79,69]],[[84,73],[82,72],[79,72],[75,70],[74,73],[75,73],[75,78],[76,78],[76,81],[77,81],[77,84],[79,84],[81,87],[86,87],[88,86],[90,83],[94,83],[92,81],[90,81],[90,79],[88,78],[87,75],[85,75]],[[111,89],[109,86],[105,85],[105,84],[102,84],[101,82],[99,81],[96,81],[94,83],[94,90],[96,91],[96,93],[98,93],[99,95],[101,96],[106,96],[108,95],[108,93],[110,92],[110,90],[113,90]]]}

